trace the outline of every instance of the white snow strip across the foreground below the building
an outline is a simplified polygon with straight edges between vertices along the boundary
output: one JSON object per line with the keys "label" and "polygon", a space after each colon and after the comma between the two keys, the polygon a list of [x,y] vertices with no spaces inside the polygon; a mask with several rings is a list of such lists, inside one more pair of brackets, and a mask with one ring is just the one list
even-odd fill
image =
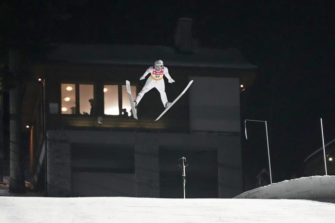
{"label": "white snow strip across the foreground below the building", "polygon": [[0,223],[334,223],[335,204],[311,200],[0,197]]}

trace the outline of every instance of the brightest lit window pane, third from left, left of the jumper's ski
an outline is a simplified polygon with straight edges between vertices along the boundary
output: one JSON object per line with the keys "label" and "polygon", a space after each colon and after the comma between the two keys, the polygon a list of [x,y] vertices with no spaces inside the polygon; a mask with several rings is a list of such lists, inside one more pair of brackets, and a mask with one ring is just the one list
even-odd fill
{"label": "brightest lit window pane, third from left, left of the jumper's ski", "polygon": [[104,114],[119,115],[119,92],[117,85],[103,86]]}

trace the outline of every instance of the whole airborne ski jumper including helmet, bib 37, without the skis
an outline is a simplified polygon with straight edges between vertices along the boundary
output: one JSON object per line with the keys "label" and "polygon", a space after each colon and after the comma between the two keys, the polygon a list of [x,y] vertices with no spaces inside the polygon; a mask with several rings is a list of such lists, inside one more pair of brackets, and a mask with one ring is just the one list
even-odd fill
{"label": "whole airborne ski jumper including helmet, bib 37, without the skis", "polygon": [[154,66],[150,66],[144,74],[139,78],[139,80],[144,80],[145,76],[151,73],[150,77],[145,82],[144,87],[138,93],[134,100],[134,106],[136,107],[139,101],[142,99],[145,93],[150,91],[152,88],[156,88],[161,94],[161,99],[163,106],[167,108],[171,103],[167,101],[167,94],[165,93],[165,83],[163,76],[165,75],[168,79],[168,83],[173,83],[174,80],[168,74],[167,67],[163,66],[163,61],[155,61]]}

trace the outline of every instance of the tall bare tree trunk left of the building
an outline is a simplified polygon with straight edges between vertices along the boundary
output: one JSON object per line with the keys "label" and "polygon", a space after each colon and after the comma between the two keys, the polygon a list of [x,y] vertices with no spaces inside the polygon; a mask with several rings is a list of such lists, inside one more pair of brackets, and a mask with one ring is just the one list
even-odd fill
{"label": "tall bare tree trunk left of the building", "polygon": [[25,177],[23,171],[23,149],[21,135],[21,106],[22,106],[22,83],[17,77],[19,70],[20,54],[18,51],[9,51],[9,71],[14,74],[15,87],[9,93],[10,113],[10,182],[9,191],[25,193]]}

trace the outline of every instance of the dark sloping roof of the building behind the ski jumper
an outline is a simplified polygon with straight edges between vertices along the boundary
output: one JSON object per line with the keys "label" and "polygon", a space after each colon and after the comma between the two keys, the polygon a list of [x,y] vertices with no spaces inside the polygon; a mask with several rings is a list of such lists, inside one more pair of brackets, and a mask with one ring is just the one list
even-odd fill
{"label": "dark sloping roof of the building behind the ski jumper", "polygon": [[167,66],[256,69],[238,49],[199,48],[192,54],[179,54],[167,46],[59,44],[48,54],[49,62],[85,64],[150,65],[157,59]]}

